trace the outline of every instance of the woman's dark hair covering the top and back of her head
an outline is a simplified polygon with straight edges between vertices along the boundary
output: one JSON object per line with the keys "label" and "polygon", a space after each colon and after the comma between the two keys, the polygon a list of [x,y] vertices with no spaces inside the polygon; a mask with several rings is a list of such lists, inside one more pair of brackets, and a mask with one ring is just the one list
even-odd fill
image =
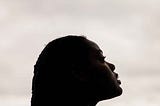
{"label": "woman's dark hair covering the top and back of her head", "polygon": [[62,93],[63,83],[67,84],[68,89],[74,89],[71,70],[74,65],[79,68],[87,66],[90,47],[86,41],[84,36],[68,35],[46,45],[34,66],[31,106],[45,101],[44,97],[50,98],[53,92]]}

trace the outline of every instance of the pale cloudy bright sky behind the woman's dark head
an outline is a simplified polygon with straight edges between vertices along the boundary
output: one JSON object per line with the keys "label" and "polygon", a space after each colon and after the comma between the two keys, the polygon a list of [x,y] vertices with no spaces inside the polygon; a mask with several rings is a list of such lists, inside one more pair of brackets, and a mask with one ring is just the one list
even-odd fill
{"label": "pale cloudy bright sky behind the woman's dark head", "polygon": [[98,106],[159,106],[159,19],[159,0],[0,0],[0,105],[27,106],[39,53],[74,34],[95,41],[122,80],[123,95]]}

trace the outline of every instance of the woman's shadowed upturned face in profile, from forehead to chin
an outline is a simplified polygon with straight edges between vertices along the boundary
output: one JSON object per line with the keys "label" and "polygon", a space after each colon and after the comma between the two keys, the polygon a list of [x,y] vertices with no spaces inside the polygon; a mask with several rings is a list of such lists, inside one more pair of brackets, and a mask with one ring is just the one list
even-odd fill
{"label": "woman's shadowed upturned face in profile, from forehead to chin", "polygon": [[102,50],[92,41],[87,41],[91,46],[89,52],[89,66],[86,68],[86,80],[92,85],[90,90],[97,100],[110,99],[122,94],[121,81],[114,72],[115,66],[105,61]]}

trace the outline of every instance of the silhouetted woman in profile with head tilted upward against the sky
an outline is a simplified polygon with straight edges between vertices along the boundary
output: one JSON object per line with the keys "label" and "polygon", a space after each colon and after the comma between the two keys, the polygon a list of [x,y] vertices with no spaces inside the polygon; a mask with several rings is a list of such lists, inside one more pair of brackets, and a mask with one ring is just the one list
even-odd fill
{"label": "silhouetted woman in profile with head tilted upward against the sky", "polygon": [[83,36],[47,44],[34,66],[31,106],[95,106],[122,94],[115,66]]}

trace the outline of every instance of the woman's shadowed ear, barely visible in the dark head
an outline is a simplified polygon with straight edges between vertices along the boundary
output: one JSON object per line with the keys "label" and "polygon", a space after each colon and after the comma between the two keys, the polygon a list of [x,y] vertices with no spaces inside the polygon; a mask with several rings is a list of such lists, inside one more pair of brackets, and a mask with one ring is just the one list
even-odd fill
{"label": "woman's shadowed ear, barely visible in the dark head", "polygon": [[88,82],[90,80],[90,75],[88,70],[82,69],[75,65],[72,66],[72,75],[74,78],[81,82]]}

